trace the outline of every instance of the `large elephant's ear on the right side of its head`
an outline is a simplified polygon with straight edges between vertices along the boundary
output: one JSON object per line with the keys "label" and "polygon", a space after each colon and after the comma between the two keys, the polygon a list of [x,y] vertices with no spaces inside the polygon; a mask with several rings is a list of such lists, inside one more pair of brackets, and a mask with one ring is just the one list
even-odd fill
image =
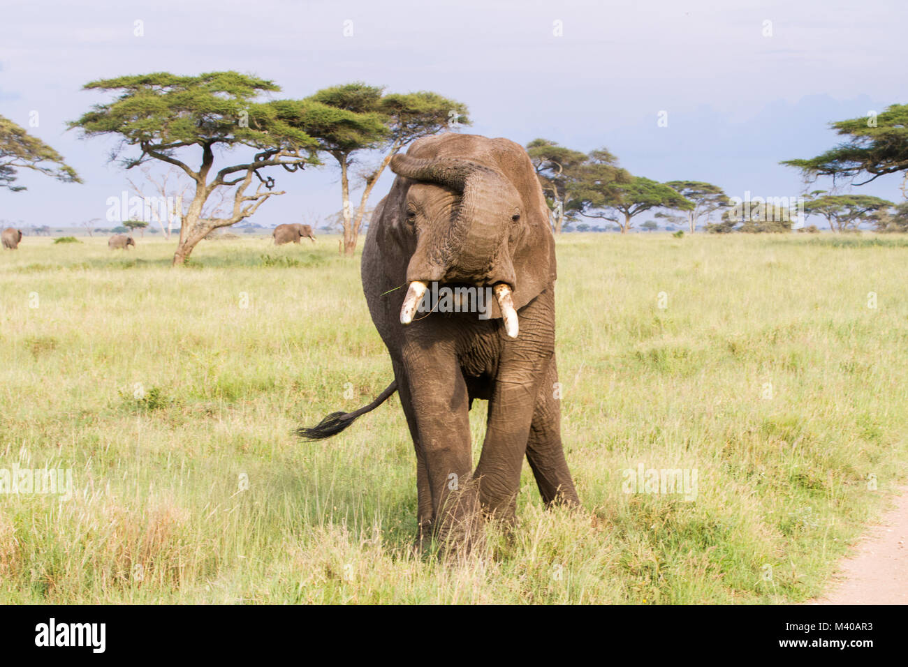
{"label": "large elephant's ear on the right side of its head", "polygon": [[[509,243],[511,262],[517,276],[514,307],[519,310],[536,299],[557,278],[555,237],[548,223],[546,198],[527,152],[508,139],[493,141],[498,148],[498,168],[517,188],[523,200],[522,224],[512,233]],[[498,313],[495,315],[498,317]]]}

